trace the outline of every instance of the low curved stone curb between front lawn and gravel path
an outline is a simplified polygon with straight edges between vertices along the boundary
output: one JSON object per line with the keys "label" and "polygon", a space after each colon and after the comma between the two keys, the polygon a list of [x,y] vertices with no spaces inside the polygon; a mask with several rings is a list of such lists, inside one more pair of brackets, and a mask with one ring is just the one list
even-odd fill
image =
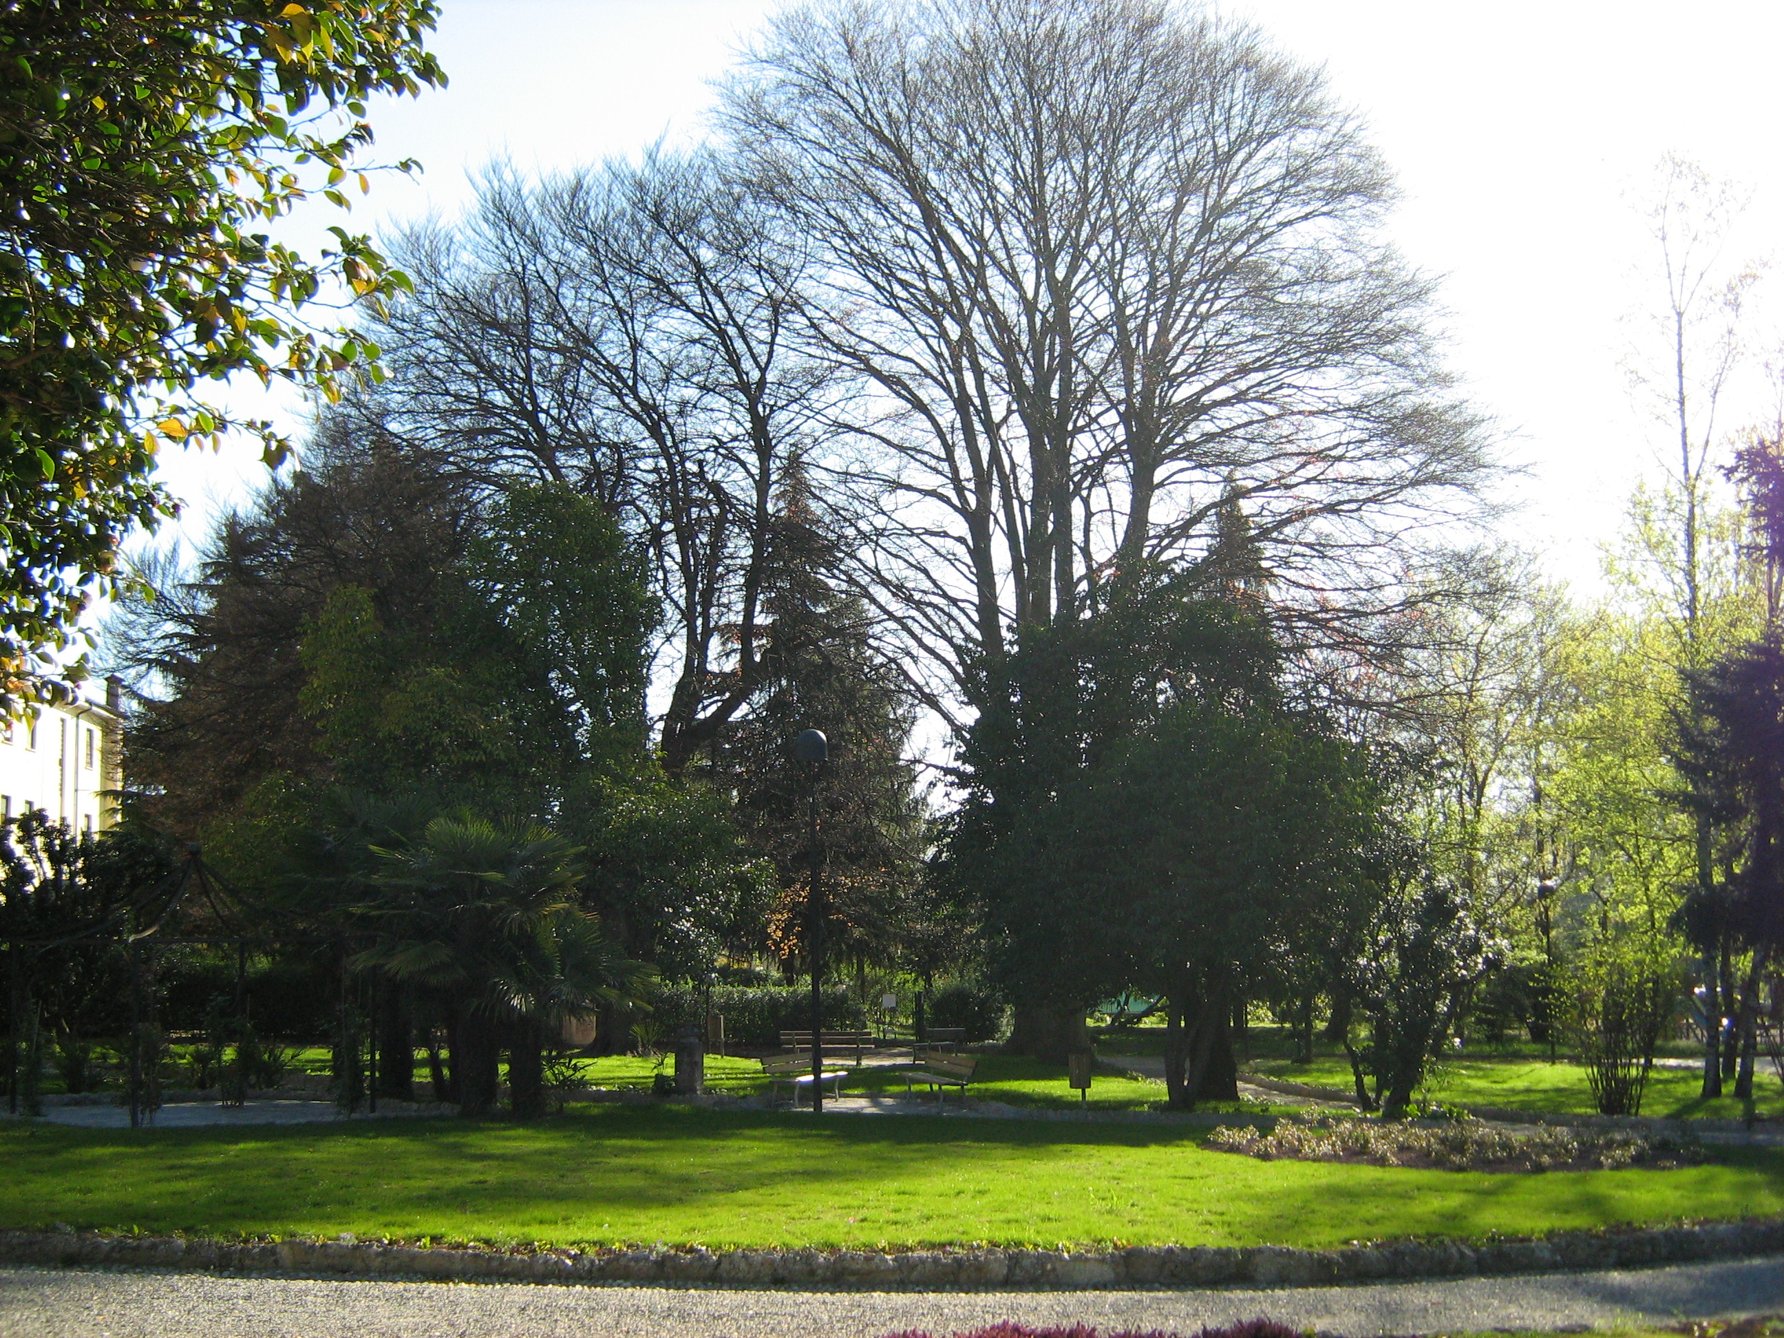
{"label": "low curved stone curb between front lawn and gravel path", "polygon": [[960,1251],[496,1251],[350,1240],[232,1243],[186,1236],[0,1231],[0,1263],[50,1268],[171,1268],[294,1277],[862,1292],[1326,1286],[1479,1274],[1577,1272],[1784,1254],[1784,1218],[1540,1240],[1397,1242],[1331,1251],[1281,1245],[1133,1245],[1108,1252]]}

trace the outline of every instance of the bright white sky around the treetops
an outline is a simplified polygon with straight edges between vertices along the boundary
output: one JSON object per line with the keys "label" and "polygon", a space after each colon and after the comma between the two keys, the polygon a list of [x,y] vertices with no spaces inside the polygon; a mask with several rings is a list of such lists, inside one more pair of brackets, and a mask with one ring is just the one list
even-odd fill
{"label": "bright white sky around the treetops", "polygon": [[[444,93],[373,112],[380,155],[421,159],[373,187],[355,225],[453,212],[507,153],[566,168],[698,136],[708,80],[765,0],[444,0]],[[1677,152],[1752,189],[1743,253],[1784,218],[1777,0],[1227,0],[1324,64],[1399,173],[1402,250],[1445,277],[1452,366],[1500,426],[1522,512],[1507,532],[1591,585],[1597,544],[1664,441],[1622,371],[1656,300],[1638,202]],[[318,205],[316,225],[323,218]],[[1647,269],[1643,269],[1647,266]],[[1784,282],[1784,277],[1772,280]],[[1757,355],[1784,346],[1755,323]],[[1757,357],[1755,357],[1757,362]],[[296,405],[287,414],[298,410]],[[1757,414],[1757,398],[1747,412]],[[289,417],[293,425],[296,417]],[[246,451],[187,453],[166,476],[191,519],[264,471]]]}

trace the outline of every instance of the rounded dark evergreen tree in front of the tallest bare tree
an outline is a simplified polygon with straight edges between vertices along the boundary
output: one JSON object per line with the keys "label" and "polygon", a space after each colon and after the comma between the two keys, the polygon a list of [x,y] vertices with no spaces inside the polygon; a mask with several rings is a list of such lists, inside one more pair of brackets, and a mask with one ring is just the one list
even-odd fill
{"label": "rounded dark evergreen tree in front of the tallest bare tree", "polygon": [[1238,983],[1306,917],[1372,896],[1374,787],[1283,705],[1268,632],[1233,594],[1156,580],[1013,657],[1017,706],[974,728],[985,790],[947,844],[947,880],[999,940],[1012,1042],[1081,1044],[1024,1035],[1024,1008],[1078,1019],[1127,987],[1163,994],[1177,1104],[1236,1095]]}

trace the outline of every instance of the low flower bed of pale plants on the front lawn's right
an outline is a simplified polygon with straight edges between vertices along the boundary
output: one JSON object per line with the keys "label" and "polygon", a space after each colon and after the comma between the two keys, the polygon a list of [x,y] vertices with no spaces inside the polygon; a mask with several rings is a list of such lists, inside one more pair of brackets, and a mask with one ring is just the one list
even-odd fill
{"label": "low flower bed of pale plants on the front lawn's right", "polygon": [[1513,1133],[1481,1120],[1433,1127],[1343,1117],[1283,1120],[1270,1133],[1220,1126],[1208,1136],[1208,1147],[1265,1161],[1361,1161],[1436,1170],[1622,1170],[1704,1160],[1695,1138],[1673,1135],[1566,1127]]}

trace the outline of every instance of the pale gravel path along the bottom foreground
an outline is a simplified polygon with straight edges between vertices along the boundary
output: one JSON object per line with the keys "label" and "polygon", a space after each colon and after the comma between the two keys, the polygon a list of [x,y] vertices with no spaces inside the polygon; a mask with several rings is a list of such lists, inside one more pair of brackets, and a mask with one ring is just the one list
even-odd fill
{"label": "pale gravel path along the bottom foreground", "polygon": [[881,1338],[995,1320],[1174,1329],[1268,1315],[1343,1334],[1784,1309],[1784,1260],[1283,1292],[837,1293],[339,1283],[0,1268],[5,1338]]}

